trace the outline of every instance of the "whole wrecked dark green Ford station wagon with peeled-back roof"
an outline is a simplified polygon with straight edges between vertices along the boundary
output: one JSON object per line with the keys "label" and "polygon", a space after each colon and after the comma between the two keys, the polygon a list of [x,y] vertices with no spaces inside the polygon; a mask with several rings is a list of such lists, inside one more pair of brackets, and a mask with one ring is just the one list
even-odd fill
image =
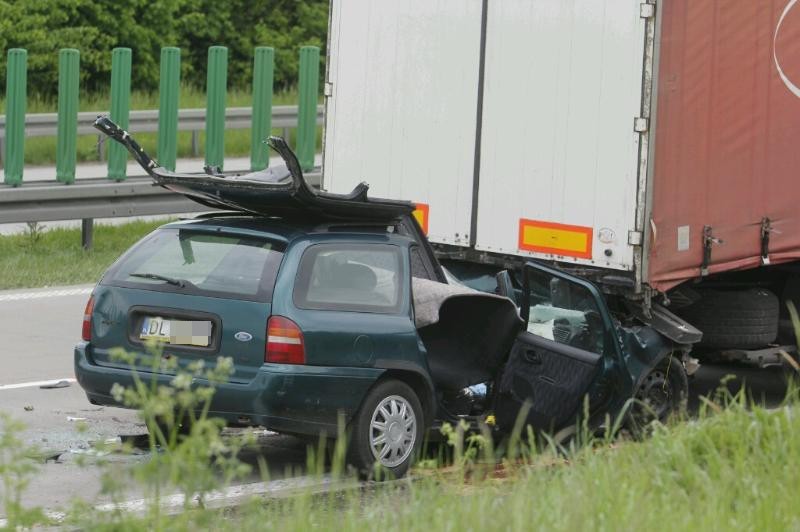
{"label": "whole wrecked dark green Ford station wagon with peeled-back roof", "polygon": [[179,366],[231,357],[211,415],[313,436],[335,435],[343,416],[348,461],[400,476],[445,422],[502,434],[522,414],[568,432],[584,405],[599,426],[632,398],[657,417],[685,400],[681,338],[623,326],[594,285],[533,262],[498,272],[496,293],[467,288],[437,261],[412,203],[369,198],[366,185],[317,191],[282,139],[271,145],[285,167],[176,174],[110,120],[96,127],[155,184],[219,210],[147,235],[97,284],[75,347],[93,404],[124,406],[112,386],[152,371],[115,348],[156,340]]}

